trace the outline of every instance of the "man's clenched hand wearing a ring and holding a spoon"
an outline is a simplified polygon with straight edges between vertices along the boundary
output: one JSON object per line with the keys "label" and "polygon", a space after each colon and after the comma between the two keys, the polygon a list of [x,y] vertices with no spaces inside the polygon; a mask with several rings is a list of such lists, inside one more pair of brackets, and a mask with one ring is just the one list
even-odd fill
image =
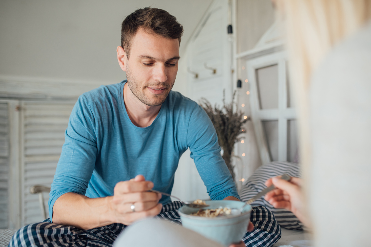
{"label": "man's clenched hand wearing a ring and holding a spoon", "polygon": [[[109,207],[113,213],[113,221],[130,225],[141,218],[156,216],[161,212],[162,204],[158,203],[161,194],[150,192],[151,181],[145,181],[138,175],[129,181],[118,182],[114,188],[114,196],[109,199]],[[134,205],[134,210],[131,206]]]}

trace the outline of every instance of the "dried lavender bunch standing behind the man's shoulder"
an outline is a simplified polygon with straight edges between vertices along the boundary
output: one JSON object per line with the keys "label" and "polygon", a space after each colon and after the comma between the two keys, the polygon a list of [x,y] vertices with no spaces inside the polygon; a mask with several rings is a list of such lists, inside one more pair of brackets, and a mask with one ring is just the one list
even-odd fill
{"label": "dried lavender bunch standing behind the man's shoulder", "polygon": [[219,146],[223,148],[223,159],[227,164],[227,167],[235,180],[235,174],[233,171],[234,166],[232,165],[232,152],[234,143],[241,140],[238,137],[244,132],[243,124],[250,120],[250,117],[243,119],[244,113],[240,110],[233,110],[233,100],[236,96],[236,91],[233,93],[232,102],[226,104],[225,102],[225,90],[223,90],[223,107],[219,109],[217,104],[211,106],[210,102],[201,98],[200,105],[206,111],[210,117],[211,122],[214,125],[216,134],[218,135]]}

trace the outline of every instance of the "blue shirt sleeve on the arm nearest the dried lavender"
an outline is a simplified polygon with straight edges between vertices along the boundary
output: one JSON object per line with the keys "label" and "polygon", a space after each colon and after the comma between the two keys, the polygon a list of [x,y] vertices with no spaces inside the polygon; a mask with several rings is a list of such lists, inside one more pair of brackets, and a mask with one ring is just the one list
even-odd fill
{"label": "blue shirt sleeve on the arm nearest the dried lavender", "polygon": [[213,123],[198,104],[188,123],[187,144],[211,200],[223,200],[227,196],[240,198],[232,175],[220,155],[221,148]]}

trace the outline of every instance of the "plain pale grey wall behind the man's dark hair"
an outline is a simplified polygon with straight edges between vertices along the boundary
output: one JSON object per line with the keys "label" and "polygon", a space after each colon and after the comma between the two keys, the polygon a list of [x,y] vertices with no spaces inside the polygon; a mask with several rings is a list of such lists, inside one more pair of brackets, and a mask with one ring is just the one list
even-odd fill
{"label": "plain pale grey wall behind the man's dark hair", "polygon": [[184,26],[180,53],[211,0],[2,0],[0,74],[118,83],[121,22],[140,7],[158,7]]}

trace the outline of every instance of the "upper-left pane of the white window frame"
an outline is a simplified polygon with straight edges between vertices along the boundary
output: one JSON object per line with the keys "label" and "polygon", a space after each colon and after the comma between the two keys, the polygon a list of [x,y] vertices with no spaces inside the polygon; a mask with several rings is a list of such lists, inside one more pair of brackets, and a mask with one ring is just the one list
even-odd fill
{"label": "upper-left pane of the white window frame", "polygon": [[278,108],[278,65],[256,70],[260,109]]}

